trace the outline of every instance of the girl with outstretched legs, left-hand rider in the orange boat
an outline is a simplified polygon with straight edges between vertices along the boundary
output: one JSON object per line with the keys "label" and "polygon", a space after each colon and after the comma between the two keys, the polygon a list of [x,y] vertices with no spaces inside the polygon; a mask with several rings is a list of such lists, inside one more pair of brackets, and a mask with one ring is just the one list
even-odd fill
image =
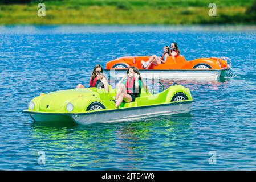
{"label": "girl with outstretched legs, left-hand rider in the orange boat", "polygon": [[141,61],[141,64],[143,65],[143,68],[148,69],[151,68],[151,65],[159,65],[161,63],[165,63],[167,60],[167,57],[170,55],[170,48],[169,46],[165,46],[164,53],[162,54],[162,57],[158,57],[156,55],[151,56],[147,62]]}

